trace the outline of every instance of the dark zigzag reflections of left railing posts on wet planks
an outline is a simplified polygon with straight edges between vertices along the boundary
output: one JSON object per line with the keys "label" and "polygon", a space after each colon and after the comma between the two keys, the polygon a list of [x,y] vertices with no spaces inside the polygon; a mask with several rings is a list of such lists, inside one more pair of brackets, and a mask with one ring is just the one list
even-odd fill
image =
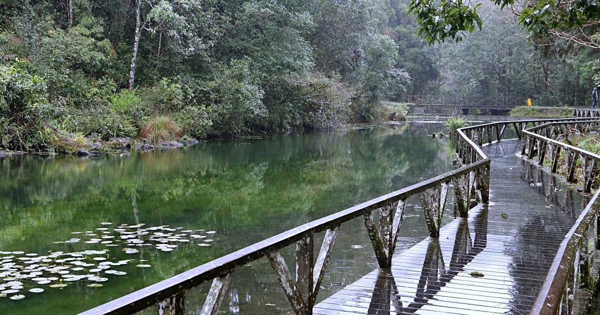
{"label": "dark zigzag reflections of left railing posts on wet planks", "polygon": [[[475,230],[475,240],[471,238],[469,223],[466,219],[460,220],[452,247],[452,255],[448,265],[443,260],[442,247],[439,239],[430,239],[425,252],[425,260],[421,268],[421,275],[416,286],[412,302],[406,301],[403,293],[398,291],[394,278],[403,278],[401,271],[380,269],[373,297],[371,298],[368,314],[416,313],[427,305],[446,284],[470,263],[487,246],[487,208],[481,209],[472,220]],[[404,300],[404,301],[403,301]]]}

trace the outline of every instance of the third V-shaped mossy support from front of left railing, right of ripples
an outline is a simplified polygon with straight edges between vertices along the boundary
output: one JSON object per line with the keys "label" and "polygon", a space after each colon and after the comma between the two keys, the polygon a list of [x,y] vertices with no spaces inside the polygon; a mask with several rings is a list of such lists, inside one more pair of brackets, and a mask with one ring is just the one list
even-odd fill
{"label": "third V-shaped mossy support from front of left railing, right of ripples", "polygon": [[440,227],[442,226],[442,216],[446,206],[449,185],[450,182],[443,182],[438,187],[431,188],[428,195],[419,193],[429,236],[432,238],[439,238],[440,236]]}

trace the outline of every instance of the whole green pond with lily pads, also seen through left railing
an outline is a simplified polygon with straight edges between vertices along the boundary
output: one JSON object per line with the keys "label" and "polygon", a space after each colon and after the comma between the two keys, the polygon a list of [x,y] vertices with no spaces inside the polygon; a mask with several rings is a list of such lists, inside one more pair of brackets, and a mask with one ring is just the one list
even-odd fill
{"label": "whole green pond with lily pads, also seen through left railing", "polygon": [[[2,314],[76,314],[451,170],[448,139],[431,137],[442,130],[410,122],[98,158],[0,159],[0,292],[8,291],[0,297]],[[401,229],[406,247],[427,236],[415,203]],[[169,236],[176,241],[163,243],[171,247],[156,246]],[[292,272],[293,249],[283,251]],[[319,298],[375,266],[362,220],[344,223]],[[103,286],[88,286],[94,283]],[[208,285],[186,293],[190,313],[202,308]],[[262,258],[233,273],[221,311],[291,309]]]}

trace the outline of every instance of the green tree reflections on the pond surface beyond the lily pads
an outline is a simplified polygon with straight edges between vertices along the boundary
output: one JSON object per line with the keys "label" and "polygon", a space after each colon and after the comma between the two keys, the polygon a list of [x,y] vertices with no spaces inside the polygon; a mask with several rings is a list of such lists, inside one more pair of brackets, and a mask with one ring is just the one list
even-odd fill
{"label": "green tree reflections on the pond surface beyond the lily pads", "polygon": [[[323,209],[338,211],[418,182],[416,174],[449,169],[449,161],[436,156],[442,145],[423,141],[427,130],[421,130],[423,138],[410,136],[411,130],[415,127],[405,124],[343,135],[200,143],[126,157],[0,160],[0,173],[10,179],[0,182],[0,220],[27,211],[29,217],[50,218],[37,224],[79,229],[82,220],[121,215],[131,193],[145,205],[144,220],[169,211],[212,217],[209,212],[218,211],[218,217],[235,217],[236,223],[258,224],[257,211],[267,209],[310,220]],[[156,206],[167,201],[179,205]],[[79,211],[88,208],[94,210]],[[62,220],[69,217],[62,215],[65,209],[73,212],[72,220]]]}

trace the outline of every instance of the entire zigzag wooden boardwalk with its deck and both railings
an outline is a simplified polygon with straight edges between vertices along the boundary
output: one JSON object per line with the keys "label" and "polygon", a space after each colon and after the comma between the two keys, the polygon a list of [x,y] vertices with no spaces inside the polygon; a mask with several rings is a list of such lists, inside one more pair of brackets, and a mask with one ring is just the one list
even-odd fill
{"label": "entire zigzag wooden boardwalk with its deck and both railings", "polygon": [[[303,224],[83,314],[132,314],[153,305],[159,314],[184,314],[187,290],[206,281],[212,286],[199,313],[217,314],[233,272],[263,257],[296,314],[580,314],[598,281],[600,190],[589,193],[599,188],[600,156],[553,139],[572,130],[600,130],[595,117],[600,112],[578,114],[592,117],[461,128],[458,165],[450,172]],[[507,127],[515,128],[518,139],[503,140]],[[561,176],[577,182],[585,195]],[[394,255],[409,198],[420,200],[430,237]],[[448,199],[454,201],[455,220],[442,227]],[[379,268],[316,304],[338,231],[356,218],[364,221]],[[324,235],[314,256],[317,233]],[[280,253],[290,245],[296,251],[294,277]]]}

